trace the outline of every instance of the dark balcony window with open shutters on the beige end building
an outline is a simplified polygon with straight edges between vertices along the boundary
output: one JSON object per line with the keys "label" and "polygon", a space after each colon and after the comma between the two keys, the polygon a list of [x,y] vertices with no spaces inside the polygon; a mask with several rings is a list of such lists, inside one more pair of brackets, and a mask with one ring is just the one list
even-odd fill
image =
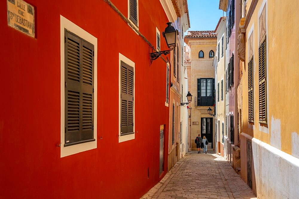
{"label": "dark balcony window with open shutters on the beige end building", "polygon": [[214,78],[197,79],[197,106],[213,106],[214,89]]}

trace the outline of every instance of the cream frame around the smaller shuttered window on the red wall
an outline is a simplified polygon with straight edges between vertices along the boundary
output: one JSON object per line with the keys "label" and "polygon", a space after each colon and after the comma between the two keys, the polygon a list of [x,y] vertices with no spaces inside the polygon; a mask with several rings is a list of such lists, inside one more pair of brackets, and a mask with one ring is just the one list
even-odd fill
{"label": "cream frame around the smaller shuttered window on the red wall", "polygon": [[129,66],[131,66],[134,70],[134,91],[133,91],[133,97],[135,97],[135,63],[130,60],[129,58],[125,57],[122,54],[118,54],[119,55],[119,60],[118,60],[118,143],[120,142],[125,142],[125,141],[129,141],[132,139],[135,139],[135,100],[133,100],[133,132],[132,134],[128,134],[128,135],[122,135],[120,136],[120,109],[121,109],[121,99],[120,99],[120,89],[121,89],[121,82],[120,82],[120,76],[121,76],[121,62],[123,61],[124,63],[128,64]]}

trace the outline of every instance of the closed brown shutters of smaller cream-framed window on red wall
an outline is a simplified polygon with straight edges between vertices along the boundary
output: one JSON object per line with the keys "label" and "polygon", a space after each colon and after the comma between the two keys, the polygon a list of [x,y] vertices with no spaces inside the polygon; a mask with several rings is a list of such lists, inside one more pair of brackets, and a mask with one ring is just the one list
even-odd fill
{"label": "closed brown shutters of smaller cream-framed window on red wall", "polygon": [[134,133],[134,69],[124,62],[121,66],[121,113],[120,113],[120,135]]}

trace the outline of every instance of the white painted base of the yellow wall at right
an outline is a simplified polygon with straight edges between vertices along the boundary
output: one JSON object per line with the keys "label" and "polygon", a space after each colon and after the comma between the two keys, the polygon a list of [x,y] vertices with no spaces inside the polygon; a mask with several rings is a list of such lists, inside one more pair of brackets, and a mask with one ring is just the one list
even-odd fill
{"label": "white painted base of the yellow wall at right", "polygon": [[257,198],[298,198],[299,159],[252,139]]}

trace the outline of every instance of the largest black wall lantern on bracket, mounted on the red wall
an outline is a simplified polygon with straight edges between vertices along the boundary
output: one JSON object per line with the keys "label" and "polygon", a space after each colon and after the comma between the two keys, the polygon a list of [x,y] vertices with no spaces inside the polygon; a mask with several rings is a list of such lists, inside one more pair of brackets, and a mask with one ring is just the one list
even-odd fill
{"label": "largest black wall lantern on bracket, mounted on the red wall", "polygon": [[158,51],[158,52],[152,52],[149,54],[149,58],[151,60],[155,60],[158,57],[160,57],[160,55],[167,55],[170,53],[170,51],[173,49],[173,46],[176,46],[176,35],[179,35],[179,31],[176,30],[172,25],[171,22],[167,23],[167,27],[165,28],[164,32],[162,32],[163,37],[166,40],[167,46],[168,48],[170,48],[170,50],[164,50],[164,51]]}

